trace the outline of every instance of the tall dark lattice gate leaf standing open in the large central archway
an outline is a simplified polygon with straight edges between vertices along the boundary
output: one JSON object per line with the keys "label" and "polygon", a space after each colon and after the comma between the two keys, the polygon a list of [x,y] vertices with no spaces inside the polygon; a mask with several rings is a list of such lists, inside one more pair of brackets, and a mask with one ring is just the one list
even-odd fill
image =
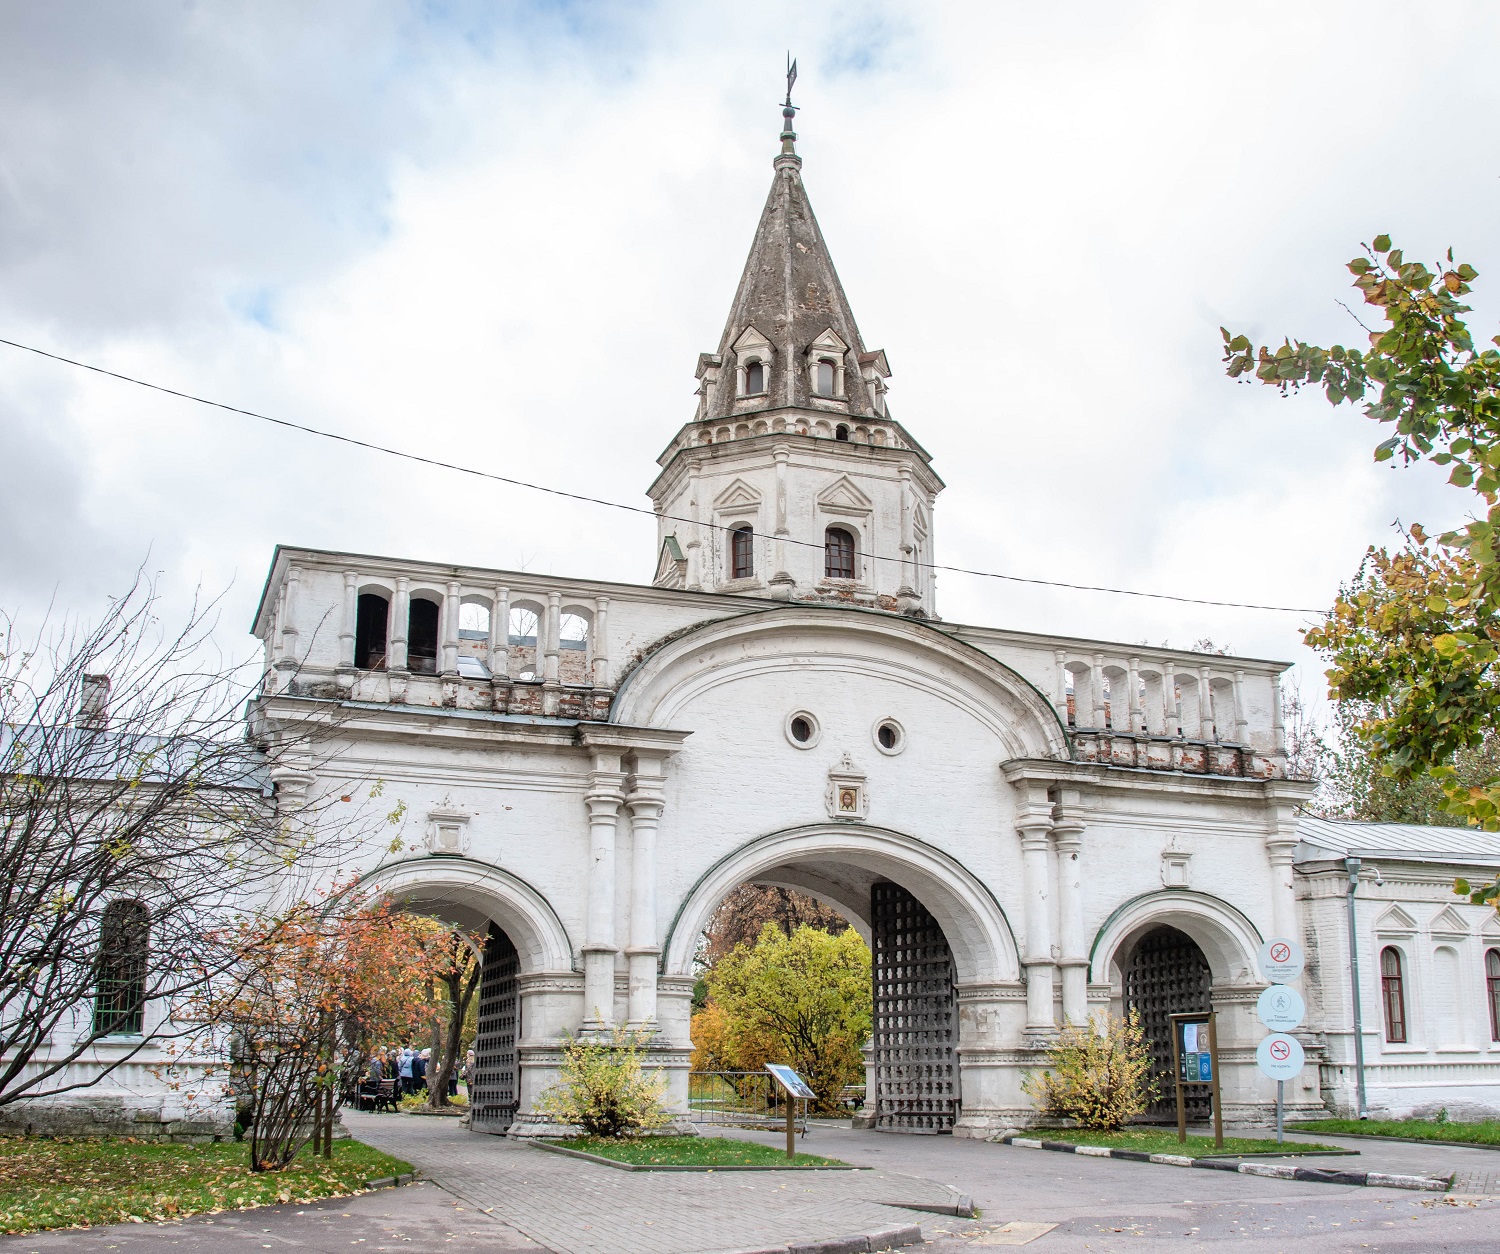
{"label": "tall dark lattice gate leaf standing open in the large central archway", "polygon": [[898,884],[870,890],[870,932],[876,1126],[951,1131],[958,1114],[958,1014],[948,938]]}

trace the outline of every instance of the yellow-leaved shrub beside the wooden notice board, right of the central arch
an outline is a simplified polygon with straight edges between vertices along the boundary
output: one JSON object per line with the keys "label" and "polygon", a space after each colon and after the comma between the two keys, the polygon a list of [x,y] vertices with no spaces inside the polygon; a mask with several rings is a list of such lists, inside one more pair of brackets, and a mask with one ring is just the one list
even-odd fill
{"label": "yellow-leaved shrub beside the wooden notice board, right of the central arch", "polygon": [[1047,1064],[1026,1076],[1022,1089],[1042,1113],[1089,1131],[1116,1131],[1156,1096],[1150,1047],[1136,1011],[1100,1024],[1068,1024],[1047,1050]]}

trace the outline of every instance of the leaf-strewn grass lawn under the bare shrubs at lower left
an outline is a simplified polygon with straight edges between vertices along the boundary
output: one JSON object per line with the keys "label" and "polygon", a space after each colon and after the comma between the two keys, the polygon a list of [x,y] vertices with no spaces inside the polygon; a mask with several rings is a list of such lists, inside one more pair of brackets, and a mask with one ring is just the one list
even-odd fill
{"label": "leaf-strewn grass lawn under the bare shrubs at lower left", "polygon": [[255,1174],[248,1143],[0,1137],[0,1233],[178,1220],[273,1202],[344,1197],[411,1166],[358,1142],[333,1158],[303,1150],[285,1172]]}

